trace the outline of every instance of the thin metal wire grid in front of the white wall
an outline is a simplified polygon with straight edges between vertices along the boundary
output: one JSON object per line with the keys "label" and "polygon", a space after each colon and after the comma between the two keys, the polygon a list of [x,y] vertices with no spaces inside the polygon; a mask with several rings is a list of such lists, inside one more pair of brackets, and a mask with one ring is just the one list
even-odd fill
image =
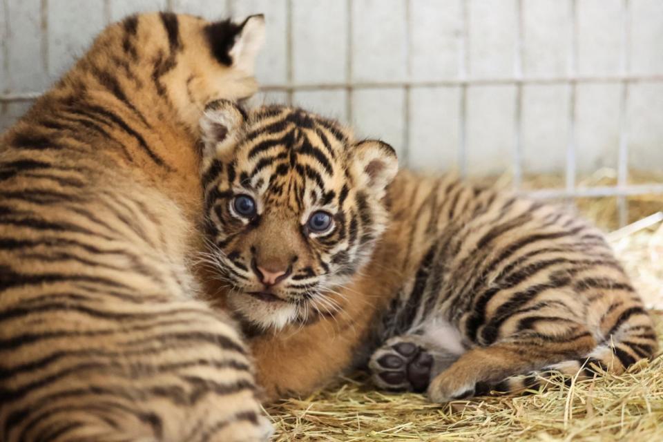
{"label": "thin metal wire grid in front of the white wall", "polygon": [[[3,7],[8,10],[8,1],[3,0]],[[237,1],[237,0],[236,0]],[[541,189],[537,191],[528,191],[526,193],[535,195],[538,198],[598,198],[598,197],[616,197],[619,209],[619,224],[626,224],[628,218],[628,204],[626,198],[630,195],[641,195],[646,193],[663,193],[663,183],[660,184],[644,184],[632,185],[628,184],[628,100],[629,89],[631,84],[638,82],[648,83],[663,83],[663,74],[657,75],[633,75],[629,66],[629,48],[631,47],[631,0],[622,0],[621,11],[621,44],[619,48],[619,75],[602,75],[602,76],[581,76],[577,73],[578,62],[578,8],[577,3],[579,0],[567,0],[570,22],[570,39],[568,41],[567,53],[567,74],[565,76],[554,77],[524,77],[523,76],[523,0],[512,0],[515,2],[515,10],[517,13],[517,28],[515,30],[516,44],[515,44],[515,57],[514,66],[512,70],[512,77],[510,78],[473,78],[470,73],[470,20],[469,20],[469,3],[471,0],[462,0],[461,3],[461,23],[462,28],[459,35],[459,57],[458,57],[458,75],[455,79],[444,79],[439,81],[355,81],[352,68],[352,33],[353,33],[353,20],[352,20],[352,0],[347,1],[347,59],[345,82],[338,83],[318,83],[318,84],[296,84],[294,81],[294,63],[293,63],[293,32],[292,32],[292,17],[293,17],[293,2],[294,0],[286,1],[287,8],[287,83],[286,84],[266,84],[262,86],[265,92],[282,92],[287,94],[287,101],[292,102],[294,93],[296,91],[305,90],[345,90],[347,91],[347,98],[345,102],[345,109],[347,119],[352,121],[354,104],[353,92],[358,89],[370,88],[386,88],[386,89],[402,89],[405,93],[405,102],[403,106],[403,155],[402,160],[407,163],[407,156],[409,149],[407,147],[409,141],[410,131],[410,90],[412,88],[459,88],[459,144],[458,144],[458,164],[461,175],[466,175],[468,169],[467,160],[467,126],[468,126],[468,89],[473,86],[498,86],[498,85],[512,85],[516,88],[515,93],[515,137],[512,146],[512,176],[513,184],[516,189],[521,189],[523,180],[523,167],[522,167],[522,109],[523,109],[523,86],[527,85],[552,85],[561,84],[566,85],[568,90],[568,140],[566,142],[566,167],[565,167],[565,186],[561,189]],[[414,0],[403,0],[405,2],[405,21],[406,21],[406,56],[407,56],[407,77],[409,78],[412,70],[412,57],[411,57],[411,3]],[[111,0],[104,0],[104,17],[106,21],[110,21],[111,17]],[[166,0],[166,7],[173,8],[174,0]],[[48,0],[41,0],[41,20],[42,28],[47,28],[47,12]],[[229,14],[233,12],[233,0],[226,0],[226,8]],[[42,56],[44,57],[45,66],[48,63],[48,39],[43,37],[42,42]],[[7,50],[6,45],[3,50]],[[7,59],[8,57],[6,57]],[[619,157],[617,163],[617,184],[615,186],[592,186],[582,187],[576,183],[576,92],[578,84],[619,84],[620,86],[620,102],[619,102]],[[3,93],[0,94],[0,106],[10,102],[29,102],[38,97],[40,93]]]}

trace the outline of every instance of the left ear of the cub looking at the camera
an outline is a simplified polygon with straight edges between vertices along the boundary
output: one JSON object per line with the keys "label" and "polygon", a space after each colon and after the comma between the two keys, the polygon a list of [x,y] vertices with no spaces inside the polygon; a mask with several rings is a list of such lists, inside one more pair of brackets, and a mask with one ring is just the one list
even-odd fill
{"label": "left ear of the cub looking at the camera", "polygon": [[232,150],[244,132],[247,113],[238,104],[217,99],[205,106],[200,119],[203,157],[218,157]]}

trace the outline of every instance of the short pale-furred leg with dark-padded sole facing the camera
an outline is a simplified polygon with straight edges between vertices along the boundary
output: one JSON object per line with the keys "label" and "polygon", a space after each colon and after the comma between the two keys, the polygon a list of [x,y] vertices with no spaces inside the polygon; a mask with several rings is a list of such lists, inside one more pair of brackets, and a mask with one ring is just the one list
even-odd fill
{"label": "short pale-furred leg with dark-padded sole facing the camera", "polygon": [[419,334],[395,336],[378,348],[368,366],[384,390],[425,392],[430,380],[459,358]]}

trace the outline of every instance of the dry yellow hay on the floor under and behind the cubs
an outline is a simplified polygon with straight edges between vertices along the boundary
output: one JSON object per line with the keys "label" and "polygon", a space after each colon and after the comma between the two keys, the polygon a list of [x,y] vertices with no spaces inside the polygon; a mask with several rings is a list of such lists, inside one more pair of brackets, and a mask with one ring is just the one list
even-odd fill
{"label": "dry yellow hay on the floor under and behind the cubs", "polygon": [[[608,178],[606,178],[608,176]],[[614,184],[603,174],[600,185]],[[530,186],[549,186],[539,180]],[[537,185],[538,184],[538,185]],[[594,185],[599,185],[594,184]],[[629,197],[629,220],[663,210],[663,195]],[[577,201],[605,229],[615,227],[615,198]],[[649,307],[663,309],[663,224],[611,236],[617,255]],[[653,311],[663,338],[663,312]],[[663,339],[660,339],[663,348]],[[366,374],[339,379],[307,398],[267,409],[275,441],[663,441],[663,354],[625,374],[570,386],[553,378],[541,391],[443,405],[419,394],[374,390]]]}

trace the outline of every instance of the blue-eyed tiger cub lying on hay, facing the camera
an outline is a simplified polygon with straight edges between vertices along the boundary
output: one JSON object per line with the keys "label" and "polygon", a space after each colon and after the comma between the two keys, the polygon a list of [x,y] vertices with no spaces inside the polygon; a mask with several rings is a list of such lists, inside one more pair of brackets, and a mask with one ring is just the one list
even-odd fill
{"label": "blue-eyed tiger cub lying on hay, facing the camera", "polygon": [[387,144],[297,108],[215,102],[201,124],[218,278],[271,398],[368,363],[443,402],[656,351],[603,236],[555,206],[396,173]]}

